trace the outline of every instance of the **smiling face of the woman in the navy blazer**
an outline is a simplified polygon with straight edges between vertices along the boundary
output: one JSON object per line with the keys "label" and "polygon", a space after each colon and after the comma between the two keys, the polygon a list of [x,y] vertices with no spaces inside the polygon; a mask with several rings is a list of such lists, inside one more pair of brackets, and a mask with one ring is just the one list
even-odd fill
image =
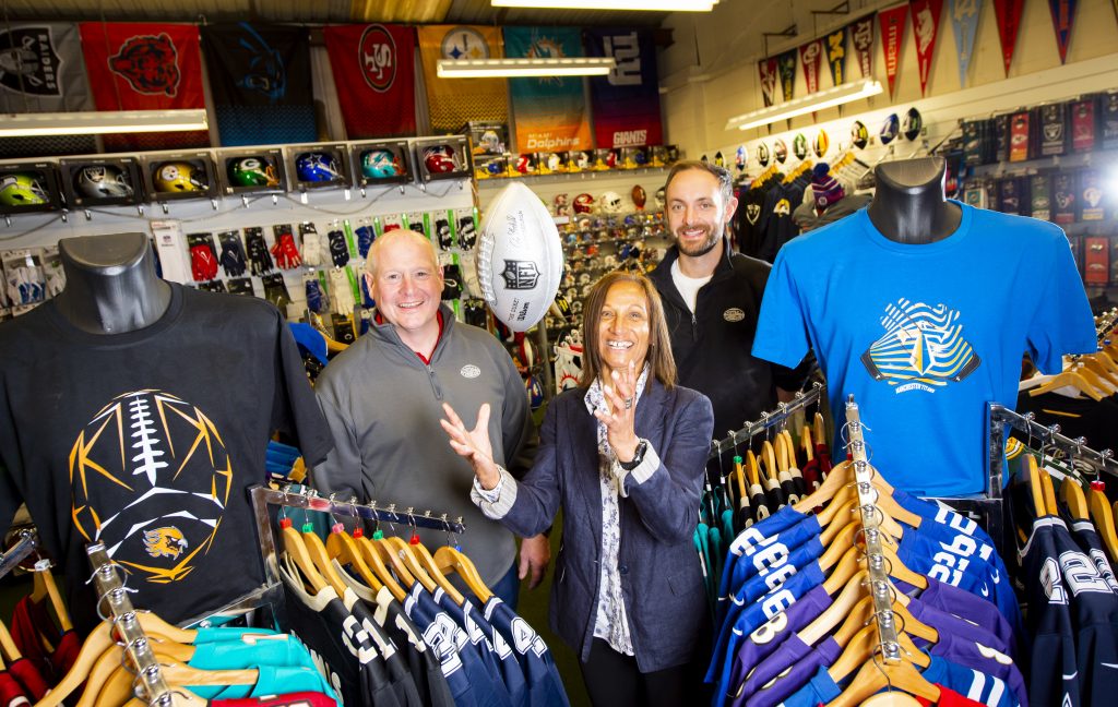
{"label": "smiling face of the woman in the navy blazer", "polygon": [[648,300],[636,283],[614,283],[606,293],[606,300],[598,313],[598,354],[606,370],[624,371],[629,361],[639,374],[648,354]]}

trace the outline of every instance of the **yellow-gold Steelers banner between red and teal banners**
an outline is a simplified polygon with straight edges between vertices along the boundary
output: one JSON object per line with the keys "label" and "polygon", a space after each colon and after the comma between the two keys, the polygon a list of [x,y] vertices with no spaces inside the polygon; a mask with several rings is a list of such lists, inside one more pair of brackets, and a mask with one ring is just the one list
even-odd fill
{"label": "yellow-gold Steelers banner between red and teal banners", "polygon": [[472,25],[423,25],[418,31],[432,131],[455,133],[470,121],[506,123],[506,79],[439,78],[437,74],[439,59],[503,58],[501,29]]}

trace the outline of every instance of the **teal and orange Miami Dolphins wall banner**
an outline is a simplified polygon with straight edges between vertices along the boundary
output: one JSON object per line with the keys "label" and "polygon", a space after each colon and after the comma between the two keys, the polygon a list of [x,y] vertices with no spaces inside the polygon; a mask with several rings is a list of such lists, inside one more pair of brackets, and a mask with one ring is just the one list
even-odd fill
{"label": "teal and orange Miami Dolphins wall banner", "polygon": [[[509,57],[559,58],[582,55],[581,30],[572,27],[505,27]],[[517,151],[589,150],[590,116],[581,76],[509,79]]]}

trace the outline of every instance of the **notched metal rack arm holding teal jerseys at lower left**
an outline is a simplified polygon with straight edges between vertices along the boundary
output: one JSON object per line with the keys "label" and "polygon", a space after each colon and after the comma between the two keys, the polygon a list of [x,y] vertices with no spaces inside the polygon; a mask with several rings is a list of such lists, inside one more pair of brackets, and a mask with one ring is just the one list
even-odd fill
{"label": "notched metal rack arm holding teal jerseys at lower left", "polygon": [[143,686],[148,704],[170,707],[173,691],[163,679],[159,661],[152,652],[151,641],[132,608],[129,590],[121,579],[124,576],[124,571],[108,558],[105,544],[102,542],[89,544],[86,553],[89,556],[89,564],[93,565],[93,580],[97,587],[97,612],[102,611],[102,603],[108,605],[108,615],[103,618],[112,622],[120,634],[124,650],[135,667],[138,681]]}

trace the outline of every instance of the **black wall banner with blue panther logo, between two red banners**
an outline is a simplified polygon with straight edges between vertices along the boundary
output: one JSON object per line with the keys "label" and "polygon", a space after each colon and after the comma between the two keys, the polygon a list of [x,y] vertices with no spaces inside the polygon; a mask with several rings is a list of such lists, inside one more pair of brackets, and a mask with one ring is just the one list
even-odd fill
{"label": "black wall banner with blue panther logo, between two red banners", "polygon": [[222,145],[318,140],[305,27],[236,22],[201,34]]}

